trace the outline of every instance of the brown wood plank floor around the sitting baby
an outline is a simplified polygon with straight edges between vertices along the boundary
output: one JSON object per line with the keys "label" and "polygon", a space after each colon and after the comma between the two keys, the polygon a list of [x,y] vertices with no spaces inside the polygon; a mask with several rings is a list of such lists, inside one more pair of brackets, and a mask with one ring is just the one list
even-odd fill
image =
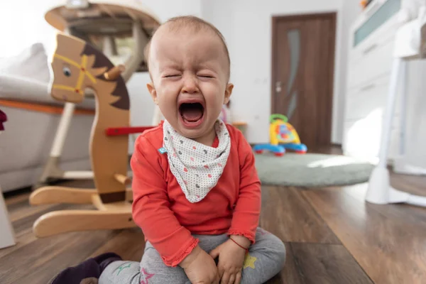
{"label": "brown wood plank floor around the sitting baby", "polygon": [[[392,175],[392,184],[426,196],[426,178]],[[285,268],[271,283],[426,283],[426,209],[364,202],[366,185],[301,189],[263,186],[260,225],[285,242]],[[0,250],[0,283],[47,283],[99,253],[140,261],[140,229],[75,232],[36,239],[35,219],[69,205],[31,207],[6,198],[18,244]]]}

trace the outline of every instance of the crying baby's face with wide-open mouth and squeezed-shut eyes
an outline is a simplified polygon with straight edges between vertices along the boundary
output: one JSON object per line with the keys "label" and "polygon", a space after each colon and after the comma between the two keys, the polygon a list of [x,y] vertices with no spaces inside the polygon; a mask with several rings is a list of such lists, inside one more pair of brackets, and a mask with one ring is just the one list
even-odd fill
{"label": "crying baby's face with wide-open mouth and squeezed-shut eyes", "polygon": [[208,136],[233,87],[221,40],[210,31],[158,31],[150,50],[148,89],[165,119],[187,138]]}

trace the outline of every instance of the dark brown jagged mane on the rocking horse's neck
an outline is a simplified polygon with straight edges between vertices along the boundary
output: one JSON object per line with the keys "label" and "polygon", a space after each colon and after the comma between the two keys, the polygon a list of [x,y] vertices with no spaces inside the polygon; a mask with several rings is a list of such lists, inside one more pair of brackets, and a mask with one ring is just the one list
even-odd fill
{"label": "dark brown jagged mane on the rocking horse's neck", "polygon": [[[112,64],[104,53],[100,52],[89,43],[84,45],[84,49],[80,55],[94,55],[94,63],[92,65],[94,68],[107,67],[107,71],[109,71],[114,67],[114,64]],[[103,74],[97,76],[97,79],[107,81]],[[114,102],[114,104],[111,104],[111,106],[118,109],[130,109],[129,92],[127,92],[126,82],[124,82],[123,77],[119,76],[116,80],[116,88],[111,94],[120,97],[120,99]]]}

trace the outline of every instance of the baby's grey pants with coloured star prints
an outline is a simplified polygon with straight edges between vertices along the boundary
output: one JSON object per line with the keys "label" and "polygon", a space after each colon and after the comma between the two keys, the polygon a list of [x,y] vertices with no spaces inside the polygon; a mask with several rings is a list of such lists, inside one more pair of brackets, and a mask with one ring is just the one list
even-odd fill
{"label": "baby's grey pants with coloured star prints", "polygon": [[[195,235],[200,247],[207,253],[229,239],[226,234],[216,236]],[[285,262],[285,246],[273,234],[258,228],[256,244],[249,248],[244,261],[242,284],[261,284],[280,272]],[[102,272],[99,284],[188,284],[185,271],[180,266],[165,266],[158,251],[147,242],[141,263],[115,261]]]}

